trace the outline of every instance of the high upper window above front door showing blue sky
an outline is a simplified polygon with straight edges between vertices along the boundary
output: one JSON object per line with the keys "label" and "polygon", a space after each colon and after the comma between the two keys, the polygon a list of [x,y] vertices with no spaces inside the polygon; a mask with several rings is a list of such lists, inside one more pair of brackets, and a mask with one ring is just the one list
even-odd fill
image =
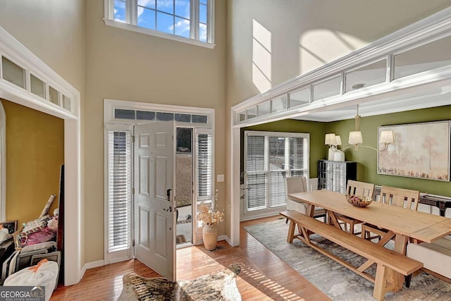
{"label": "high upper window above front door showing blue sky", "polygon": [[105,0],[105,6],[107,25],[135,25],[125,28],[168,39],[214,43],[214,0]]}

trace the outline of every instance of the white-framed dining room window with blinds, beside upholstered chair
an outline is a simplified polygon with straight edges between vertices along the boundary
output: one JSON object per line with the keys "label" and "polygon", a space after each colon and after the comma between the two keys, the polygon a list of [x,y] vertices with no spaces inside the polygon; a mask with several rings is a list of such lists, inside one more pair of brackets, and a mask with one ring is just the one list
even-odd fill
{"label": "white-framed dining room window with blinds, beside upholstered chair", "polygon": [[287,176],[309,176],[309,134],[246,131],[245,211],[285,206]]}

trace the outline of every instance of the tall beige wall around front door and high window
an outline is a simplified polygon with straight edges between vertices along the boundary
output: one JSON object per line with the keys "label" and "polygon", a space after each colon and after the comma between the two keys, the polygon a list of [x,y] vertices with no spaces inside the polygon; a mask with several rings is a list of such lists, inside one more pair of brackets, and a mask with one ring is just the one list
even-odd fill
{"label": "tall beige wall around front door and high window", "polygon": [[213,50],[109,27],[103,16],[103,1],[86,1],[87,262],[104,258],[105,98],[216,109],[215,167],[225,173],[226,1],[216,1]]}

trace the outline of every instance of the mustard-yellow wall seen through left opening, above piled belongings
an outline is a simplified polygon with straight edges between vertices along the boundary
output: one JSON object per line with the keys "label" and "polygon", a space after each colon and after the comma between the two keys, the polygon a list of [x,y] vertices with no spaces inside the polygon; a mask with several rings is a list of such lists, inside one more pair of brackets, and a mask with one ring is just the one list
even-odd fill
{"label": "mustard-yellow wall seen through left opening, above piled belongings", "polygon": [[[6,220],[37,219],[51,194],[58,207],[64,122],[1,99],[6,113]],[[20,228],[20,226],[19,226]]]}

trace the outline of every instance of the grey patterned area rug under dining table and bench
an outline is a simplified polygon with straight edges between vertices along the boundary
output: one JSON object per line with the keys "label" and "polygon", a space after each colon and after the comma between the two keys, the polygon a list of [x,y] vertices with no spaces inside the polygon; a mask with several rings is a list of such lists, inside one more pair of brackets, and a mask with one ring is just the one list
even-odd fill
{"label": "grey patterned area rug under dining table and bench", "polygon": [[[288,224],[285,219],[246,226],[245,230],[332,300],[374,300],[374,285],[371,281],[354,274],[300,240],[288,243]],[[311,235],[311,240],[354,266],[366,260],[319,235]],[[373,275],[375,271],[374,268],[369,270]],[[451,300],[451,284],[420,274],[412,278],[410,288],[403,287],[397,293],[386,293],[385,300]]]}

